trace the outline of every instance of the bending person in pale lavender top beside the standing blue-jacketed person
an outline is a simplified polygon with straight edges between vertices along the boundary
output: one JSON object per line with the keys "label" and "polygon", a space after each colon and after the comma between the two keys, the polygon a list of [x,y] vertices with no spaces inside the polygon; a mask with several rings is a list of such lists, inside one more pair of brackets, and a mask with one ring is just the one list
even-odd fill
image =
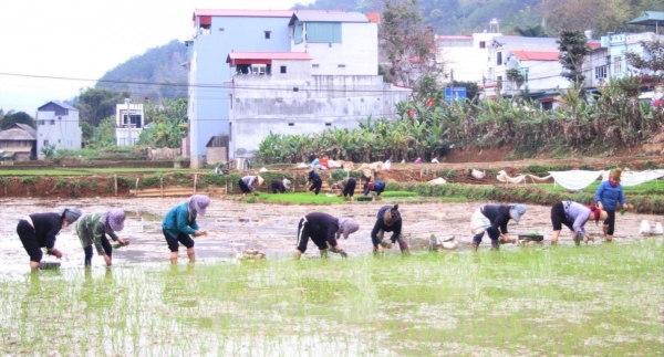
{"label": "bending person in pale lavender top beside the standing blue-jacketed person", "polygon": [[605,220],[606,211],[600,210],[594,206],[584,206],[572,201],[562,201],[553,204],[551,208],[551,223],[553,224],[553,235],[551,244],[558,243],[558,237],[562,230],[562,224],[572,231],[572,239],[579,245],[581,240],[588,243],[589,237],[585,233],[585,222]]}

